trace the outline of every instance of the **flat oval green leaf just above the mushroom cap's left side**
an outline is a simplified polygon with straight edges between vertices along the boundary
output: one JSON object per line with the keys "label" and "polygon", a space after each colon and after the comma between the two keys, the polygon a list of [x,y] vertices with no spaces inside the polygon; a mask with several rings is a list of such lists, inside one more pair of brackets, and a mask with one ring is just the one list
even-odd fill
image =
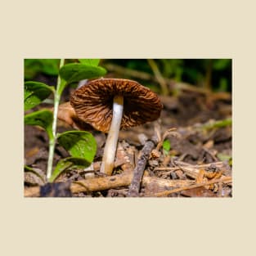
{"label": "flat oval green leaf just above the mushroom cap's left side", "polygon": [[106,70],[99,66],[70,63],[60,70],[62,79],[67,83],[78,82],[83,79],[95,79],[106,74]]}

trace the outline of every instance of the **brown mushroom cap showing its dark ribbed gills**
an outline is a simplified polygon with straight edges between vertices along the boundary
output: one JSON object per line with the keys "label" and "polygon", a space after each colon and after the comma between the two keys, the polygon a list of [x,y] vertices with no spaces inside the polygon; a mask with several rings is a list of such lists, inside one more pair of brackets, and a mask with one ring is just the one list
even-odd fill
{"label": "brown mushroom cap showing its dark ribbed gills", "polygon": [[124,96],[121,129],[154,121],[163,109],[155,92],[128,79],[92,80],[71,94],[70,104],[79,119],[101,132],[108,132],[115,95]]}

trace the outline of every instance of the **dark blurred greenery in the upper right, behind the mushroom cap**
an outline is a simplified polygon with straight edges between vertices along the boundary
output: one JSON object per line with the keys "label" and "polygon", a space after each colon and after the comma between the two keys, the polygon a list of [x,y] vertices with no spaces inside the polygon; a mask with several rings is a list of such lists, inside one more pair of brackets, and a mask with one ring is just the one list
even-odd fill
{"label": "dark blurred greenery in the upper right, behind the mushroom cap", "polygon": [[[112,65],[112,71],[127,74],[127,78],[132,76],[134,79],[149,81],[151,75],[157,74],[158,78],[162,76],[164,79],[190,83],[200,88],[231,92],[231,59],[154,59],[159,70],[156,73],[154,72],[156,69],[154,67],[152,69],[146,59],[112,59],[103,62],[106,66]],[[166,92],[163,88],[163,78],[158,79],[158,83],[147,83],[146,86],[154,88],[155,92]]]}

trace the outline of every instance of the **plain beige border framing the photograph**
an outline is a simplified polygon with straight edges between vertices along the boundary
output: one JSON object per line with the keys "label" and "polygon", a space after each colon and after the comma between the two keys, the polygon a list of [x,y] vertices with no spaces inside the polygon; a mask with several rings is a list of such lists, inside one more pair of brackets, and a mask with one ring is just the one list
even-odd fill
{"label": "plain beige border framing the photograph", "polygon": [[[1,3],[1,254],[252,255],[253,1],[82,2]],[[234,197],[24,199],[23,59],[63,56],[232,58]]]}

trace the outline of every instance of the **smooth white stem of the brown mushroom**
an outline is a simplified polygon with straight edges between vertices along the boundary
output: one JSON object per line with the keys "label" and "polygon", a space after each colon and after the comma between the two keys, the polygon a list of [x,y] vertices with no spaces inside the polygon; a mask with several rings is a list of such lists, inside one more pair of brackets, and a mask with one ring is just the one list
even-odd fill
{"label": "smooth white stem of the brown mushroom", "polygon": [[123,110],[124,97],[115,96],[113,100],[113,117],[110,124],[110,131],[106,139],[101,164],[101,173],[106,173],[107,175],[111,175],[114,168],[115,151],[119,138],[119,129],[122,121]]}

